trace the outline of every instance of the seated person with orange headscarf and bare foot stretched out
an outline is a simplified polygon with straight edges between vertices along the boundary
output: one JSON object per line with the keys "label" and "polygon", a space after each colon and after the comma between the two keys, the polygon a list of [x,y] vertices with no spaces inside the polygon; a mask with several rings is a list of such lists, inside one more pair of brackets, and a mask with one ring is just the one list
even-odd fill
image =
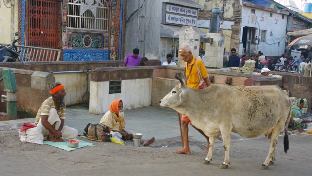
{"label": "seated person with orange headscarf and bare foot stretched out", "polygon": [[[133,138],[132,134],[126,132],[125,119],[123,114],[123,103],[121,99],[114,100],[109,105],[109,111],[107,111],[102,117],[100,124],[104,123],[106,127],[109,127],[113,132],[119,132],[122,135],[123,140],[131,140]],[[141,140],[144,146],[148,146],[155,141],[155,137],[149,140]]]}

